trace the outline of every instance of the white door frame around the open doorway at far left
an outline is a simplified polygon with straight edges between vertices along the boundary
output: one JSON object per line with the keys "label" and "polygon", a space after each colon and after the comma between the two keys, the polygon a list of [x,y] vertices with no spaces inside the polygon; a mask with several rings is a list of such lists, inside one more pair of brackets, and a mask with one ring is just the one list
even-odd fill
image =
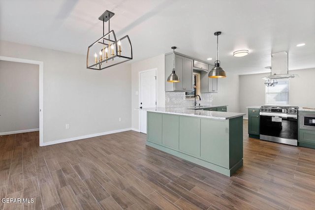
{"label": "white door frame around the open doorway at far left", "polygon": [[44,146],[44,62],[0,56],[0,60],[39,65],[39,146]]}

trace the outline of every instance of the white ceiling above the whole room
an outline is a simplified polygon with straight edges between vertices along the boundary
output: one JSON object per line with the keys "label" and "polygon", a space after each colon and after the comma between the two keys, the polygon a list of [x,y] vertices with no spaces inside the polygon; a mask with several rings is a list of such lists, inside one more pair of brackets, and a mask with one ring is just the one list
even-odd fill
{"label": "white ceiling above the whole room", "polygon": [[[129,35],[133,60],[177,52],[216,60],[227,74],[269,72],[271,53],[287,51],[289,70],[315,67],[315,0],[1,0],[0,39],[86,55],[111,30]],[[105,23],[105,31],[108,25]],[[306,43],[303,47],[296,47]],[[246,57],[233,57],[236,50]]]}

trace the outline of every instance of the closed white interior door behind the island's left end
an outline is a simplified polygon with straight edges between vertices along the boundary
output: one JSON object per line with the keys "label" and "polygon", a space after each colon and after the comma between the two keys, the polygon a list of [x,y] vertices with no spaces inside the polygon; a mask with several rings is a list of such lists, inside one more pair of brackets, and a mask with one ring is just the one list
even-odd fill
{"label": "closed white interior door behind the island's left end", "polygon": [[[157,70],[142,71],[140,74],[140,108],[157,107]],[[140,111],[140,132],[147,133],[147,112]]]}

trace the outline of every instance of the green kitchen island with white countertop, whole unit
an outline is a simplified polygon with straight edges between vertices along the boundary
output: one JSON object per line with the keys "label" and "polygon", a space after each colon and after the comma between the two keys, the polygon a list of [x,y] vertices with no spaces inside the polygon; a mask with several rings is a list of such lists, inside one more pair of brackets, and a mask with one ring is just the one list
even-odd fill
{"label": "green kitchen island with white countertop, whole unit", "polygon": [[243,166],[244,113],[146,108],[146,145],[226,176]]}

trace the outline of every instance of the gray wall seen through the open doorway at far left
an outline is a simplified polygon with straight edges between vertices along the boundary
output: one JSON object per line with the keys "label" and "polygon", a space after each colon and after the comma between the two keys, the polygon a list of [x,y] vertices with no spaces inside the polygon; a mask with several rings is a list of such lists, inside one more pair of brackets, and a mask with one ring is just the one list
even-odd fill
{"label": "gray wall seen through the open doorway at far left", "polygon": [[39,129],[39,66],[0,60],[0,133]]}

